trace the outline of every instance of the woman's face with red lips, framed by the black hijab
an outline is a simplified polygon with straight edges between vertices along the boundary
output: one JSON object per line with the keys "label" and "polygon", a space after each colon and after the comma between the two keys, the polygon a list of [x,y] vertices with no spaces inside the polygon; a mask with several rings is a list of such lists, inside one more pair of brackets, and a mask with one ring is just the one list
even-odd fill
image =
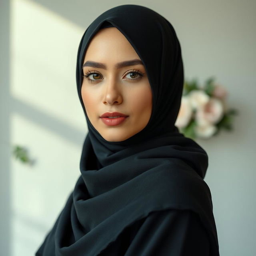
{"label": "woman's face with red lips, framed by the black hijab", "polygon": [[[128,63],[132,60],[136,61]],[[90,122],[105,140],[126,140],[148,124],[152,92],[146,70],[117,28],[103,28],[92,38],[84,56],[83,72],[84,107]],[[108,118],[110,114],[106,114],[107,117],[101,118],[106,112],[119,112],[126,117]]]}

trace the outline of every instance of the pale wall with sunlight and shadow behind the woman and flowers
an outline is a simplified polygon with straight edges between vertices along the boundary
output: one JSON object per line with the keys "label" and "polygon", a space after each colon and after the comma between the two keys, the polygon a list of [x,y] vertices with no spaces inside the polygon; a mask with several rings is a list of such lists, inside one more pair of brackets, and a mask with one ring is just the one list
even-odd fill
{"label": "pale wall with sunlight and shadow behind the woman and flowers", "polygon": [[[186,79],[216,76],[229,106],[240,112],[233,132],[198,143],[209,155],[205,181],[220,255],[253,256],[256,1],[129,3],[167,18],[180,40]],[[1,1],[1,255],[34,255],[74,188],[87,132],[76,92],[78,44],[98,15],[120,4],[127,2]],[[34,166],[11,157],[14,144],[29,149]]]}

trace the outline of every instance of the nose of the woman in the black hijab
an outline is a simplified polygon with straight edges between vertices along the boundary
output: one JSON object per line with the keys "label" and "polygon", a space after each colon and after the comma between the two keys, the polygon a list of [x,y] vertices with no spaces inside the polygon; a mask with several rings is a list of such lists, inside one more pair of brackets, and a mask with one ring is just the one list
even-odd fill
{"label": "nose of the woman in the black hijab", "polygon": [[[106,87],[105,87],[106,86]],[[109,80],[105,86],[102,88],[105,90],[103,96],[103,104],[112,105],[112,104],[121,104],[122,103],[122,95],[120,91],[120,87],[118,83],[114,81],[114,79]]]}

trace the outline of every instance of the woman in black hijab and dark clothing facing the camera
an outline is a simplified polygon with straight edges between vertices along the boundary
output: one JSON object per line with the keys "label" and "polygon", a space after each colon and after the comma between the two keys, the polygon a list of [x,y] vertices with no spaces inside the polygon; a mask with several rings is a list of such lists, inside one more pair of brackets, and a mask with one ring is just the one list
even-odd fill
{"label": "woman in black hijab and dark clothing facing the camera", "polygon": [[184,73],[170,22],[107,10],[82,36],[76,81],[81,176],[36,256],[218,256],[208,156],[174,125]]}

